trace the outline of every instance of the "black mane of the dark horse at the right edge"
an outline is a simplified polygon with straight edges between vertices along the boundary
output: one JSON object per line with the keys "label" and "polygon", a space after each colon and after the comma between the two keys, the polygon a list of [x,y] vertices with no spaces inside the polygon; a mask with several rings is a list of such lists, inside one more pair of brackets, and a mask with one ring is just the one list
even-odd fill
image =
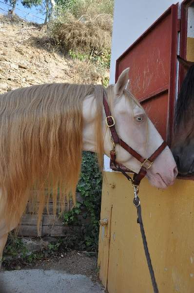
{"label": "black mane of the dark horse at the right edge", "polygon": [[[189,111],[191,110],[191,111]],[[179,124],[184,114],[194,113],[194,65],[183,81],[175,108],[175,125]]]}

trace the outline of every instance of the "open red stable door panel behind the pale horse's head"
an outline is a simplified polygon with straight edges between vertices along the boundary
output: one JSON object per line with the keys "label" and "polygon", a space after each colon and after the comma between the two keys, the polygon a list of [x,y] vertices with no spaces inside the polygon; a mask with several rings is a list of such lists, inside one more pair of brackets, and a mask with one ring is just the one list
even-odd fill
{"label": "open red stable door panel behind the pale horse's head", "polygon": [[130,67],[130,89],[169,145],[174,127],[177,34],[178,4],[116,61],[116,81]]}

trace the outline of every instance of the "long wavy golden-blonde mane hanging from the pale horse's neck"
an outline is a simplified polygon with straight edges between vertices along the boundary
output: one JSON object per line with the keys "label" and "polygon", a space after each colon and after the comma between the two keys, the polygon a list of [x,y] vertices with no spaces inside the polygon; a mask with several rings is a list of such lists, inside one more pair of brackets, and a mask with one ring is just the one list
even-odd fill
{"label": "long wavy golden-blonde mane hanging from the pale horse's neck", "polygon": [[83,114],[87,95],[96,98],[96,139],[102,165],[101,85],[42,84],[0,95],[0,188],[11,220],[21,216],[21,202],[32,189],[39,190],[39,219],[43,208],[57,196],[64,209],[78,183]]}

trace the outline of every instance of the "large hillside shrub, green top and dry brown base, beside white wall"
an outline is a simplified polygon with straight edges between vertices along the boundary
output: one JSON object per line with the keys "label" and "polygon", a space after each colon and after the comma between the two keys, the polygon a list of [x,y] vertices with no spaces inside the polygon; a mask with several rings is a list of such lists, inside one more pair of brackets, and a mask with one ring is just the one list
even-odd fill
{"label": "large hillside shrub, green top and dry brown base, beside white wall", "polygon": [[57,16],[50,22],[50,35],[63,51],[87,54],[110,50],[113,0],[60,0]]}

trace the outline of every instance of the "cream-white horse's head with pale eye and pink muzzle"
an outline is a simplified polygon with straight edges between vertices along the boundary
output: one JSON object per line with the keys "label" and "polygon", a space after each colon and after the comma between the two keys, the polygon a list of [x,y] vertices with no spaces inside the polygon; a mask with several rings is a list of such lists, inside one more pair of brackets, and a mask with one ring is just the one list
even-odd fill
{"label": "cream-white horse's head with pale eye and pink muzzle", "polygon": [[[112,95],[109,96],[111,111],[115,118],[116,131],[119,137],[131,146],[144,158],[149,158],[162,144],[163,139],[155,126],[147,117],[143,107],[134,96],[127,91],[129,68],[125,69],[112,86]],[[110,133],[106,131],[104,140],[105,153],[110,156]],[[141,163],[130,155],[122,146],[116,145],[116,161],[138,173]],[[147,169],[147,178],[157,188],[166,188],[174,183],[177,175],[175,160],[168,146]]]}

